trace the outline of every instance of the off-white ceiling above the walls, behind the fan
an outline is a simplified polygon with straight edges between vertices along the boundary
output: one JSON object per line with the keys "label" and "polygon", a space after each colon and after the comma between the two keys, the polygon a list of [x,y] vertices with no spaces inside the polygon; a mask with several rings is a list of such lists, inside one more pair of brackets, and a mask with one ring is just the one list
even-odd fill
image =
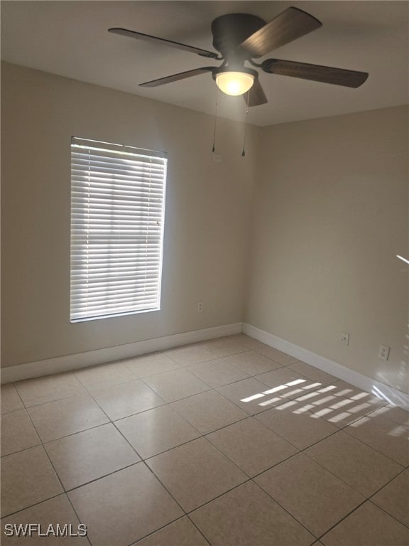
{"label": "off-white ceiling above the walls, behind the fan", "polygon": [[[268,104],[250,109],[250,123],[265,126],[408,103],[406,1],[1,1],[1,58],[214,114],[216,85],[209,74],[138,87],[213,64],[212,59],[117,36],[107,28],[129,28],[213,50],[210,24],[215,17],[239,12],[270,21],[288,6],[307,11],[323,26],[265,58],[361,70],[369,78],[350,89],[261,73]],[[219,98],[219,115],[244,119],[241,97]]]}

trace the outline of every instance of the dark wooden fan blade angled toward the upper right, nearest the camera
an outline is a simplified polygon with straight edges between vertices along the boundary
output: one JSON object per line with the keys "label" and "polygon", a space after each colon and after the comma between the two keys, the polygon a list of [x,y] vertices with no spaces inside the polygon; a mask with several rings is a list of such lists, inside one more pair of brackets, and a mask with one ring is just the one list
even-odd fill
{"label": "dark wooden fan blade angled toward the upper right, nearest the camera", "polygon": [[249,36],[240,47],[249,51],[252,57],[262,57],[269,51],[280,48],[281,45],[315,31],[320,26],[322,26],[321,21],[305,11],[288,8]]}

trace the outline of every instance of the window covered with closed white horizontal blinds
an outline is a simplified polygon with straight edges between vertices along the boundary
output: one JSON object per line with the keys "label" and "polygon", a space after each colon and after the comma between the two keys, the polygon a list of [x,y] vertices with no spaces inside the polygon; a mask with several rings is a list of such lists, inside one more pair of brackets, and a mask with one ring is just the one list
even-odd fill
{"label": "window covered with closed white horizontal blinds", "polygon": [[71,322],[160,309],[166,164],[72,138]]}

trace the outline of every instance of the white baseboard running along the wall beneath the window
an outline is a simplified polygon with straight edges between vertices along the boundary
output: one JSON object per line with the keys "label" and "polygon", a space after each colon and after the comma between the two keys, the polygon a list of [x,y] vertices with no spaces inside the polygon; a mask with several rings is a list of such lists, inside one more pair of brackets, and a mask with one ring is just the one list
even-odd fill
{"label": "white baseboard running along the wall beneath the window", "polygon": [[126,345],[89,350],[86,353],[59,356],[48,358],[48,360],[38,360],[36,362],[8,366],[1,368],[1,383],[38,378],[42,375],[87,368],[87,366],[153,353],[156,350],[170,349],[180,345],[187,345],[187,343],[197,343],[197,341],[205,341],[206,339],[232,336],[234,333],[241,333],[241,330],[242,323],[236,322],[234,324],[225,324],[224,326],[214,326],[214,328],[176,333],[173,336],[136,341],[135,343],[127,343]]}

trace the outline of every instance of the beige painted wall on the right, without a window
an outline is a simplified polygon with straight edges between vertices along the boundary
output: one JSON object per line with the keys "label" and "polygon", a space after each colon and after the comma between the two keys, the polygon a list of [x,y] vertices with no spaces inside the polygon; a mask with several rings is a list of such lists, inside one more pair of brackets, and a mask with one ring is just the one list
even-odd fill
{"label": "beige painted wall on the right, without a window", "polygon": [[263,129],[246,313],[403,391],[409,266],[396,255],[409,252],[408,127],[408,108],[396,107]]}

